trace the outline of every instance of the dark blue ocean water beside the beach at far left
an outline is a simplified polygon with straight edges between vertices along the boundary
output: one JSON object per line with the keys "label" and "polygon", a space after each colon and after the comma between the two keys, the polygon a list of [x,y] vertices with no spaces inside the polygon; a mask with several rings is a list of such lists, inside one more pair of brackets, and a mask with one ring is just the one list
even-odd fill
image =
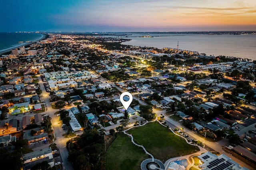
{"label": "dark blue ocean water beside the beach at far left", "polygon": [[19,43],[19,41],[36,41],[42,37],[44,35],[38,33],[0,33],[0,53],[27,44]]}

